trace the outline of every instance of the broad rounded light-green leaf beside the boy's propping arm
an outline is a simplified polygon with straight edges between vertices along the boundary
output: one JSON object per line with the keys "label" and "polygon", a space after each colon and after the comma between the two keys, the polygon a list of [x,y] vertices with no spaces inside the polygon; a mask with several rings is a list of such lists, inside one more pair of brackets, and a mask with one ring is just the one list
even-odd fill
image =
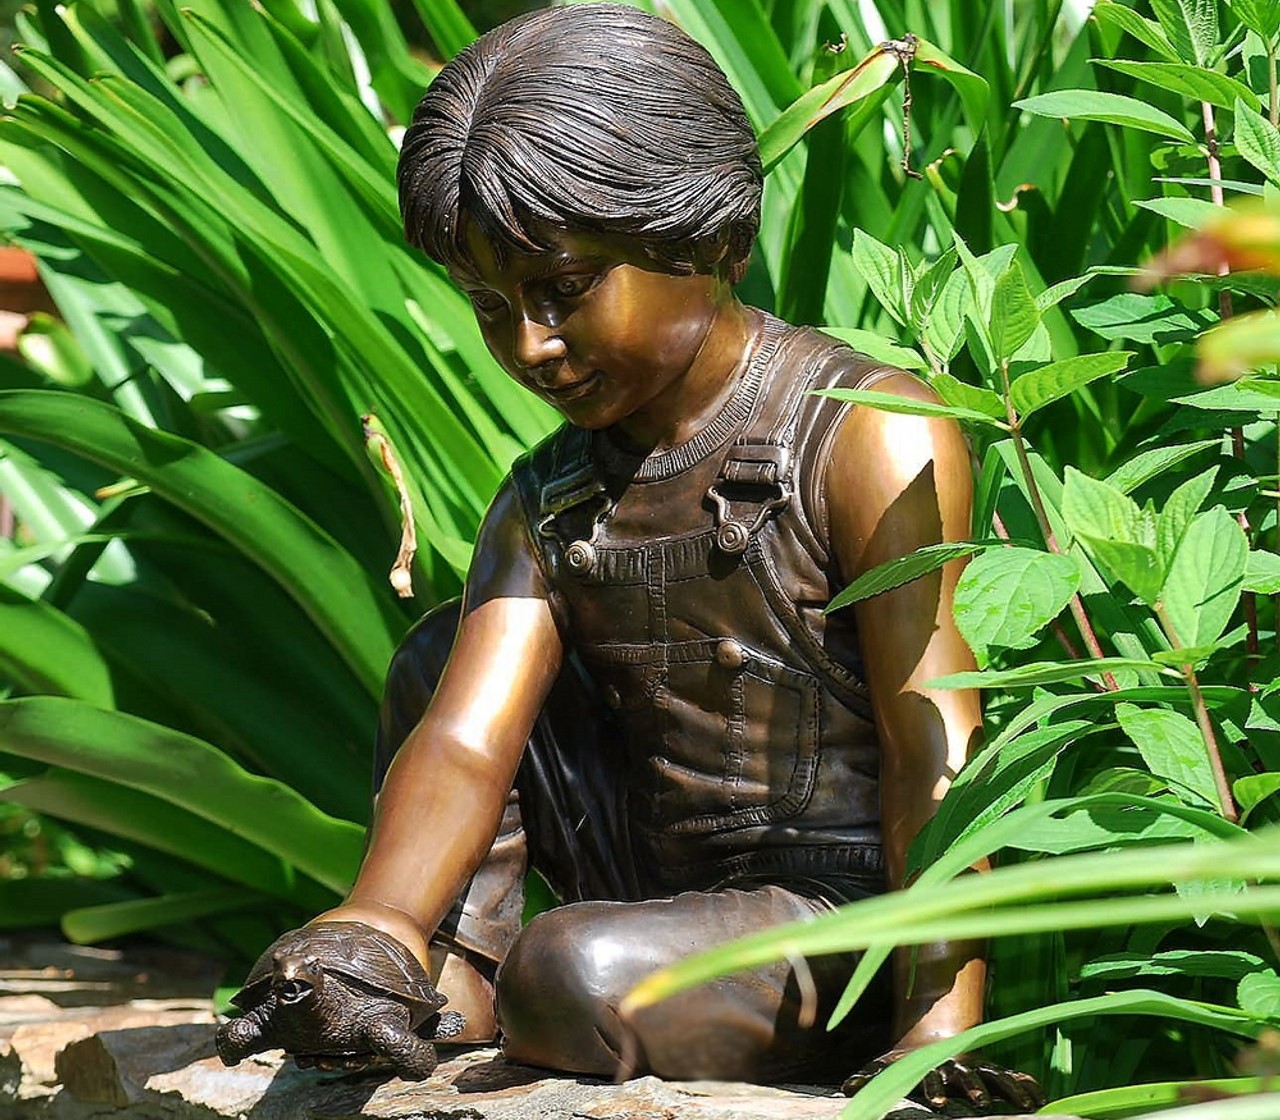
{"label": "broad rounded light-green leaf beside the boy's propping arm", "polygon": [[955,590],[960,634],[986,668],[991,646],[1028,649],[1080,586],[1066,556],[1029,548],[995,548],[974,558]]}

